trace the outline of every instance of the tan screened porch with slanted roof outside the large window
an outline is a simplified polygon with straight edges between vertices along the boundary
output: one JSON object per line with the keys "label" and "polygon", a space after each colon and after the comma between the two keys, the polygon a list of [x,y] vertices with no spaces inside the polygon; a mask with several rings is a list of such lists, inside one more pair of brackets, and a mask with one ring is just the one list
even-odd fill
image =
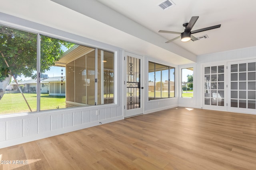
{"label": "tan screened porch with slanted roof outside the large window", "polygon": [[[98,49],[98,104],[114,103],[114,53]],[[95,49],[74,45],[56,62],[66,67],[66,107],[95,105]],[[48,79],[46,79],[48,81]],[[49,80],[50,81],[50,80]],[[52,80],[51,82],[54,82]],[[75,83],[74,83],[75,82]],[[54,87],[50,85],[50,94]],[[55,84],[55,90],[59,85]],[[63,86],[65,90],[65,86]],[[57,91],[58,92],[58,91]]]}

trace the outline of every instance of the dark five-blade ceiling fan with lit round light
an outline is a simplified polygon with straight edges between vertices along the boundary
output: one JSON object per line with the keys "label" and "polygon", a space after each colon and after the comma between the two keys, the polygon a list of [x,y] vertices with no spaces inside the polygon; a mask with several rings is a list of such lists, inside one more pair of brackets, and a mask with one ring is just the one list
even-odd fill
{"label": "dark five-blade ceiling fan with lit round light", "polygon": [[184,29],[183,33],[175,32],[175,31],[164,31],[164,30],[160,30],[158,32],[159,33],[180,34],[180,36],[175,37],[174,39],[170,39],[169,41],[166,41],[165,43],[170,43],[171,41],[174,41],[175,39],[178,39],[180,37],[181,37],[181,41],[183,41],[183,42],[189,41],[190,39],[192,41],[196,41],[198,39],[196,37],[194,37],[193,35],[191,35],[191,34],[199,33],[199,32],[202,32],[202,31],[207,31],[207,30],[210,30],[210,29],[219,28],[220,25],[221,25],[221,24],[219,24],[219,25],[214,25],[214,26],[211,26],[211,27],[206,27],[206,28],[202,28],[202,29],[197,29],[197,30],[191,31],[191,29],[195,25],[196,21],[198,20],[198,18],[199,18],[199,16],[193,16],[193,17],[191,17],[191,19],[190,19],[190,21],[188,23],[184,23],[183,27],[185,27],[185,29]]}

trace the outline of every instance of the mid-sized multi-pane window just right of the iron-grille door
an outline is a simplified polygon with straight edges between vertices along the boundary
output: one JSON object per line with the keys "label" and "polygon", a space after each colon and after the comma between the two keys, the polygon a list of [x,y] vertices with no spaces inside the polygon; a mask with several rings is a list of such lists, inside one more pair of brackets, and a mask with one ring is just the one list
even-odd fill
{"label": "mid-sized multi-pane window just right of the iron-grille door", "polygon": [[148,100],[175,96],[175,68],[148,62]]}

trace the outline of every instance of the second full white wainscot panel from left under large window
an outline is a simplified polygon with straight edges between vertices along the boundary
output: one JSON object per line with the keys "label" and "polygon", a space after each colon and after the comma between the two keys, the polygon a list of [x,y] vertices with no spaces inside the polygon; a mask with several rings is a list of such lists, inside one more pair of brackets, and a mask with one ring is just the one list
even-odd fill
{"label": "second full white wainscot panel from left under large window", "polygon": [[38,122],[37,117],[29,117],[26,119],[23,119],[23,131],[24,136],[30,136],[37,134]]}

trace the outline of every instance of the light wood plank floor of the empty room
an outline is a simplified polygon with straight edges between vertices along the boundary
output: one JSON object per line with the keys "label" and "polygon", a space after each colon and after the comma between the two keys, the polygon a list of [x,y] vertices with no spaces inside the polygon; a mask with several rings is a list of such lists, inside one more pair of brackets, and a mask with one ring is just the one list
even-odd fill
{"label": "light wood plank floor of the empty room", "polygon": [[0,149],[4,169],[256,170],[256,115],[158,111]]}

